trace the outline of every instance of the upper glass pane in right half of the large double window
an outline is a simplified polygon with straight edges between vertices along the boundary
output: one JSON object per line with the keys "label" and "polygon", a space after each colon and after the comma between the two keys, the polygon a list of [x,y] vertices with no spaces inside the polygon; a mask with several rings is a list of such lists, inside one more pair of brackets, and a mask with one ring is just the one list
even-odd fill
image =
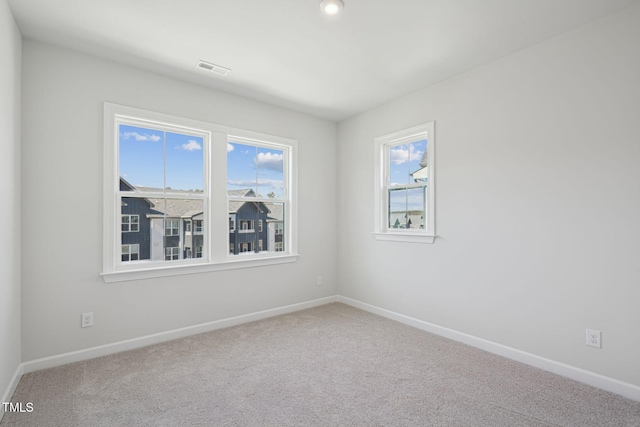
{"label": "upper glass pane in right half of the large double window", "polygon": [[284,197],[284,151],[227,143],[227,190],[231,197]]}

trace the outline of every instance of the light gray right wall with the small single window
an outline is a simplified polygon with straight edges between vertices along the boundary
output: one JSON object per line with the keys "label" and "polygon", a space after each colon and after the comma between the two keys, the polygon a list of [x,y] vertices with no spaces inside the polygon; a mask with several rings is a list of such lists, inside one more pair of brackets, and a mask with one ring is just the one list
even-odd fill
{"label": "light gray right wall with the small single window", "polygon": [[[340,293],[640,385],[638,76],[636,7],[340,123]],[[376,241],[374,137],[430,120],[439,237]]]}

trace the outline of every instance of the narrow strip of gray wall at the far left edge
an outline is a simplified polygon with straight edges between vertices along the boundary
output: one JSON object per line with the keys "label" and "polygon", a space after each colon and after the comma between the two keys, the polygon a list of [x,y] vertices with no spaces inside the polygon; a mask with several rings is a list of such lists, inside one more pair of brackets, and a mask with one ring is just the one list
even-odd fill
{"label": "narrow strip of gray wall at the far left edge", "polygon": [[[20,69],[22,38],[0,0],[0,399],[20,365]],[[2,414],[0,414],[0,418]]]}

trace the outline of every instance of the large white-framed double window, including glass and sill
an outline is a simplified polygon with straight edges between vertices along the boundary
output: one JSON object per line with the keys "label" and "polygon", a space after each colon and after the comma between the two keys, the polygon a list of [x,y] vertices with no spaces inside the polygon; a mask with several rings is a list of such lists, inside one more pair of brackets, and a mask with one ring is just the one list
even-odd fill
{"label": "large white-framed double window, including glass and sill", "polygon": [[296,150],[290,139],[105,104],[105,280],[295,261]]}

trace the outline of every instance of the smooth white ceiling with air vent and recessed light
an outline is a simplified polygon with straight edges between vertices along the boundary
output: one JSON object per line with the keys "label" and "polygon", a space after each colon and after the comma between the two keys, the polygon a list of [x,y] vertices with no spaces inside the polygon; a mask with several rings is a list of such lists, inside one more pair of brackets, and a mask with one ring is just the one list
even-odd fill
{"label": "smooth white ceiling with air vent and recessed light", "polygon": [[344,0],[336,17],[319,0],[8,3],[27,39],[340,121],[640,0]]}

